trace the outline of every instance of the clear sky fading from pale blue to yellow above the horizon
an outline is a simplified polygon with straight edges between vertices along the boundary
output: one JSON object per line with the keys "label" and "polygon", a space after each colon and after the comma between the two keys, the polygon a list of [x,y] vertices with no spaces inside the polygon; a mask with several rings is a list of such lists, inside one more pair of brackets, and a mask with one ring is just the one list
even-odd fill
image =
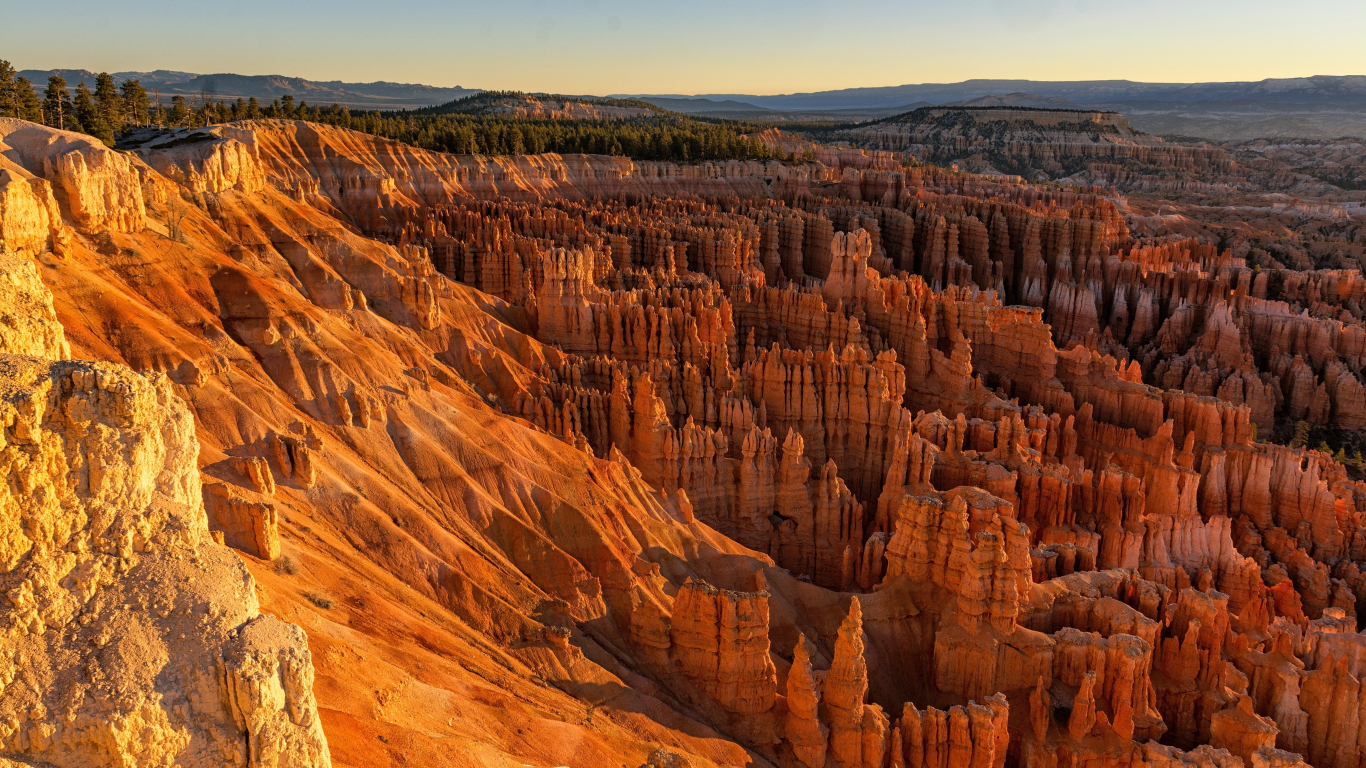
{"label": "clear sky fading from pale blue to yellow above the horizon", "polygon": [[64,0],[56,34],[55,11],[0,0],[0,59],[600,96],[1366,74],[1363,0]]}

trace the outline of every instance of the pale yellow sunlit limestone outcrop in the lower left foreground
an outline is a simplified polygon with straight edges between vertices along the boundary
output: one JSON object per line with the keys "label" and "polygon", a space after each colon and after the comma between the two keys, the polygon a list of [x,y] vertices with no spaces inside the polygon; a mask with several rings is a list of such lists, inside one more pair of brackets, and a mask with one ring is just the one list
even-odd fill
{"label": "pale yellow sunlit limestone outcrop in the lower left foreground", "polygon": [[171,381],[67,355],[0,256],[0,764],[329,767],[303,631],[210,540]]}

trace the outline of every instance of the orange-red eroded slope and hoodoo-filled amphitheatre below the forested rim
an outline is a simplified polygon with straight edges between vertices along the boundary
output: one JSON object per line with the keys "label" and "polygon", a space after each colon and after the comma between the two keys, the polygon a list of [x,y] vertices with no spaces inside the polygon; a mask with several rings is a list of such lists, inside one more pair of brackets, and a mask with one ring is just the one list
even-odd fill
{"label": "orange-red eroded slope and hoodoo-filled amphitheatre below the forested rim", "polygon": [[333,764],[1366,756],[1366,485],[1254,439],[1366,415],[1356,272],[862,152],[0,133],[7,249],[184,399]]}

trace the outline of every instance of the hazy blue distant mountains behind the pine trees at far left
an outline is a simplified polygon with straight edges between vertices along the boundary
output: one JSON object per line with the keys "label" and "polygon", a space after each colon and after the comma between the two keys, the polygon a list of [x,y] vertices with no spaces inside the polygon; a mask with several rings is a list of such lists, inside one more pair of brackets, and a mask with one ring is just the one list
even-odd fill
{"label": "hazy blue distant mountains behind the pine trees at far left", "polygon": [[[142,87],[148,89],[148,93],[154,96],[160,92],[164,100],[172,96],[184,96],[186,98],[208,96],[210,100],[219,101],[251,98],[254,96],[257,100],[269,102],[281,96],[292,96],[295,101],[302,100],[313,105],[340,104],[352,109],[414,109],[479,93],[479,89],[460,86],[437,87],[395,82],[318,82],[283,75],[199,75],[169,70],[111,74],[120,83],[126,79],[137,79],[142,83]],[[29,78],[40,90],[52,75],[61,75],[71,87],[75,87],[81,81],[93,87],[96,78],[96,72],[89,70],[25,70],[19,75]]]}

